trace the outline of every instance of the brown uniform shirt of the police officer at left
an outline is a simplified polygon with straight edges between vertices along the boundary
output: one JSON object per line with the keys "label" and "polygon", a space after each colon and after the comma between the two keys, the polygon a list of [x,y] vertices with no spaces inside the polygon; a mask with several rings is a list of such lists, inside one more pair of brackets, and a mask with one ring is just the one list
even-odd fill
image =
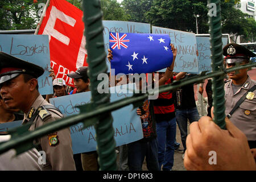
{"label": "brown uniform shirt of the police officer at left", "polygon": [[[39,95],[31,107],[34,107],[34,110],[36,110],[38,107],[43,105],[50,104],[45,101],[41,95]],[[36,127],[40,127],[45,123],[52,122],[63,117],[63,115],[57,110],[47,110],[51,116],[43,121],[42,118],[39,117],[39,114],[36,115],[35,120],[30,127],[30,131],[35,130]],[[24,115],[23,123],[26,122],[26,120],[30,120],[28,115],[29,112]],[[53,136],[57,138],[56,144],[50,143],[50,138]],[[36,140],[36,142],[38,142],[42,150],[46,152],[46,164],[44,165],[43,170],[76,170],[75,162],[73,160],[72,140],[69,128],[56,131],[56,133],[51,135],[46,135]]]}

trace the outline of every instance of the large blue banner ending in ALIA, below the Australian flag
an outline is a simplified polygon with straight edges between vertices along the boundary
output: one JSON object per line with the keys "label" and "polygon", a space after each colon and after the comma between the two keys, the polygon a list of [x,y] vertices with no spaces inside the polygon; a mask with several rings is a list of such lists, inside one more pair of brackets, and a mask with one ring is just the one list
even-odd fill
{"label": "large blue banner ending in ALIA, below the Australian flag", "polygon": [[[125,86],[125,85],[123,85]],[[132,93],[123,93],[121,86],[115,86],[110,88],[110,102],[120,100],[125,97],[130,97]],[[130,85],[127,85],[127,88]],[[112,89],[119,90],[119,92],[113,92]],[[57,107],[64,116],[79,114],[79,108],[76,106],[90,103],[90,92],[82,92],[72,94],[63,97],[51,98],[50,103]],[[136,109],[133,109],[133,105],[122,107],[121,109],[112,112],[114,119],[114,139],[117,146],[135,142],[136,140],[143,138],[142,124],[139,115],[136,113]],[[79,154],[82,152],[89,152],[96,150],[96,138],[95,130],[93,126],[86,129],[82,129],[83,123],[78,123],[70,127],[73,154]]]}

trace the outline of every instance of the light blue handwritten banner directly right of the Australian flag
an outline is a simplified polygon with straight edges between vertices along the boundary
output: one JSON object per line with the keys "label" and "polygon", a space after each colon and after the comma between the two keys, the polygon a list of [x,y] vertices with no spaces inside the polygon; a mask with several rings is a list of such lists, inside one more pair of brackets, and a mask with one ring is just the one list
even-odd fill
{"label": "light blue handwritten banner directly right of the Australian flag", "polygon": [[[152,26],[152,34],[168,34],[177,49],[174,72],[198,72],[196,35],[191,32]],[[164,72],[166,69],[160,70]]]}

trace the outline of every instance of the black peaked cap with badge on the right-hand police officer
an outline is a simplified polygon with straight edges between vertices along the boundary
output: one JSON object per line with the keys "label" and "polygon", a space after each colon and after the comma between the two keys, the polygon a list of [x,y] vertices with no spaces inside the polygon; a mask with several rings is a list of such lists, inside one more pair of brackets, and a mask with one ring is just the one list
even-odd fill
{"label": "black peaked cap with badge on the right-hand police officer", "polygon": [[255,53],[249,49],[236,44],[230,43],[223,48],[223,55],[226,56],[226,63],[241,63],[244,60],[249,60],[250,57],[255,57]]}

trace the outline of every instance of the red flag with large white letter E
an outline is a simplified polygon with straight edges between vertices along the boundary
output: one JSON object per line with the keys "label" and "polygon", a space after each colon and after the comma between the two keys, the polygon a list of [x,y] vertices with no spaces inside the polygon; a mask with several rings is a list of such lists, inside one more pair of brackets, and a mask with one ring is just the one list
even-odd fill
{"label": "red flag with large white letter E", "polygon": [[73,86],[68,73],[87,66],[82,11],[65,0],[51,0],[38,34],[49,35],[51,67],[56,78]]}

